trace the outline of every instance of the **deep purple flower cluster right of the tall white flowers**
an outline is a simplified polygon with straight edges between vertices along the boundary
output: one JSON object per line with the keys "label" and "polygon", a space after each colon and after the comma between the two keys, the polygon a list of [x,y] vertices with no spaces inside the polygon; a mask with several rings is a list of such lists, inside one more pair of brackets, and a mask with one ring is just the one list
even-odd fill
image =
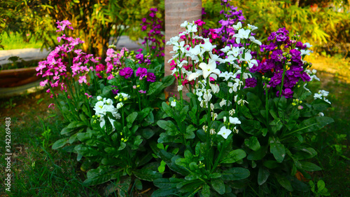
{"label": "deep purple flower cluster right of the tall white flowers", "polygon": [[[268,39],[271,43],[260,46],[261,52],[267,52],[265,59],[258,61],[258,66],[250,69],[251,72],[260,72],[265,77],[270,78],[269,86],[278,90],[276,91],[277,96],[280,94],[280,87],[283,86],[281,95],[287,98],[293,97],[293,88],[300,80],[310,81],[309,74],[304,72],[304,63],[300,55],[300,49],[306,48],[306,46],[301,42],[291,40],[288,33],[284,27],[277,32],[272,32]],[[299,49],[293,48],[293,43]],[[290,50],[286,51],[284,48]]]}

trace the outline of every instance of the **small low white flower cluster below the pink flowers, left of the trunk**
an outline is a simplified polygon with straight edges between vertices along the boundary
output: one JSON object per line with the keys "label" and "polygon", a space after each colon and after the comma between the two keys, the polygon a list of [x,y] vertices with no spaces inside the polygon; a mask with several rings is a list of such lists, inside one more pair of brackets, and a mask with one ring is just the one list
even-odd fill
{"label": "small low white flower cluster below the pink flowers, left of the trunk", "polygon": [[[94,111],[95,115],[97,116],[99,120],[99,125],[101,128],[104,127],[106,124],[106,114],[107,112],[111,112],[111,114],[114,116],[114,118],[120,118],[120,114],[118,113],[118,109],[113,106],[113,100],[111,99],[106,99],[101,96],[97,96],[98,102],[94,105]],[[108,116],[107,116],[108,117]],[[116,130],[116,127],[113,125],[113,122],[115,122],[114,119],[109,118],[109,121],[112,124],[113,131]]]}

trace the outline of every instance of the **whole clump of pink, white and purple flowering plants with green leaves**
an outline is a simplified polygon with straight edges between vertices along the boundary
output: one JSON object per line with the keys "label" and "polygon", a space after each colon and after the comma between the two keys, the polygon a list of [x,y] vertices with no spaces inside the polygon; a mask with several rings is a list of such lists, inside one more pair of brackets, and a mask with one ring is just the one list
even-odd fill
{"label": "whole clump of pink, white and purple flowering plants with green leaves", "polygon": [[[127,196],[153,183],[152,196],[239,196],[245,189],[329,195],[310,172],[316,151],[307,140],[333,122],[328,92],[311,93],[319,80],[304,57],[311,45],[281,27],[262,43],[254,25],[228,1],[217,29],[202,20],[166,43],[172,75],[164,76],[162,23],[144,18],[146,48],[86,54],[71,23],[57,22],[57,46],[39,62],[41,86],[64,116],[64,138],[52,149],[76,154],[86,186]],[[179,97],[168,97],[176,79]],[[188,89],[186,95],[184,88]],[[311,97],[311,99],[310,99]],[[315,188],[315,184],[318,189]]]}

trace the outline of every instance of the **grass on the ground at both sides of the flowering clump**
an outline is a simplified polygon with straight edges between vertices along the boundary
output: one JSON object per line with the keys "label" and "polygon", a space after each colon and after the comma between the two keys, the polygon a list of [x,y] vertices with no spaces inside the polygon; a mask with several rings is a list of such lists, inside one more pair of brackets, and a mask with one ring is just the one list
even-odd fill
{"label": "grass on the ground at both sides of the flowering clump", "polygon": [[[328,100],[332,102],[332,108],[325,112],[325,116],[335,119],[335,123],[328,125],[318,135],[309,136],[310,145],[318,152],[314,163],[323,168],[320,172],[314,172],[312,177],[314,182],[323,179],[330,196],[345,197],[350,193],[350,81],[347,81],[350,79],[349,60],[312,58],[314,60],[310,61],[314,63],[314,68],[318,69],[317,76],[321,81],[311,83],[308,88],[313,92],[330,92]],[[14,177],[12,191],[8,195],[103,196],[105,185],[83,186],[85,172],[80,170],[76,154],[51,149],[52,143],[61,138],[59,132],[63,128],[63,118],[59,111],[48,109],[51,101],[44,92],[0,100],[1,131],[5,130],[5,118],[11,118]],[[5,133],[0,132],[0,138],[5,139]],[[0,140],[1,153],[4,152],[4,147],[4,140]],[[0,156],[1,168],[6,164],[4,158],[4,155]],[[4,176],[4,173],[0,174],[1,184]],[[4,194],[3,189],[1,187],[0,196]],[[278,184],[269,185],[268,189],[268,194],[246,189],[237,196],[316,196],[311,191],[290,193],[281,189]]]}

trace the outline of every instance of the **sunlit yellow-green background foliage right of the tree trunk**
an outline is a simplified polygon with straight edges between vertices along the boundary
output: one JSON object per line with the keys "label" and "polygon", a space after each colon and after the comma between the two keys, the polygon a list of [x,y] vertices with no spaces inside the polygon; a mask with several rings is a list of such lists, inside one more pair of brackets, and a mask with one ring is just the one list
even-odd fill
{"label": "sunlit yellow-green background foliage right of the tree trunk", "polygon": [[[220,7],[215,0],[203,1],[208,16],[213,21],[219,20],[218,12]],[[296,3],[294,1],[294,3]],[[286,27],[292,34],[299,33],[304,40],[317,44],[318,50],[327,50],[330,53],[342,53],[348,55],[349,50],[349,12],[346,9],[349,5],[343,4],[342,12],[337,7],[331,7],[332,2],[328,1],[324,6],[313,8],[307,2],[300,1],[300,4],[290,4],[288,1],[232,1],[246,16],[246,21],[256,24],[257,34],[264,41],[274,29]],[[339,3],[335,1],[335,5]],[[207,20],[204,20],[207,22]],[[209,26],[213,28],[214,26]]]}

